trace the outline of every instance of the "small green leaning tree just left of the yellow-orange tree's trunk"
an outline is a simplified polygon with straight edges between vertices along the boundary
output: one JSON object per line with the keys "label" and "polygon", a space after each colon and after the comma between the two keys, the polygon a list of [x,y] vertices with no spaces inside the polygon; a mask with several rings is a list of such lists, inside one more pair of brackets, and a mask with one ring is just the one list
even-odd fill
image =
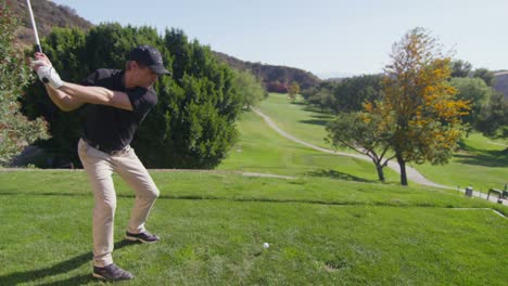
{"label": "small green leaning tree just left of the yellow-orange tree's trunk", "polygon": [[327,125],[326,141],[334,147],[345,146],[370,157],[379,180],[384,182],[383,168],[386,167],[389,160],[393,159],[393,156],[388,156],[392,130],[383,130],[379,127],[392,128],[393,126],[381,125],[382,120],[372,114],[369,116],[363,113],[340,114]]}

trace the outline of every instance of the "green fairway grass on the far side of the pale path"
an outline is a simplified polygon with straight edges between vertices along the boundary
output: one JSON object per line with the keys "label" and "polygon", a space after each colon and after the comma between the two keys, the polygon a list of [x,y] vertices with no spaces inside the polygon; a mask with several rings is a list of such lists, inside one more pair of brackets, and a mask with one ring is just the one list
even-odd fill
{"label": "green fairway grass on the far side of the pale path", "polygon": [[[322,140],[326,136],[326,122],[332,118],[329,115],[304,105],[302,102],[291,104],[285,94],[277,93],[270,93],[259,109],[270,116],[288,133],[315,145],[330,148]],[[312,118],[319,118],[319,122],[309,123]],[[473,186],[474,190],[486,193],[491,187],[503,188],[508,183],[508,156],[501,154],[506,147],[508,147],[506,140],[491,140],[473,133],[462,140],[461,150],[448,164],[443,166],[411,165],[411,167],[435,183],[461,188]],[[370,161],[369,164],[372,165]],[[374,169],[366,170],[376,172]],[[367,174],[357,173],[356,176]],[[397,179],[392,177],[390,181],[398,181],[398,176],[394,176]]]}

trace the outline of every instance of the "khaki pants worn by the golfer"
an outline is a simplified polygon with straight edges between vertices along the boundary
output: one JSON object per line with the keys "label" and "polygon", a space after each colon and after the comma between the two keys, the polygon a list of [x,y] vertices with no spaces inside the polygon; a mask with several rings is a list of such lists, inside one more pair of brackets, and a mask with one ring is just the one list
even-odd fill
{"label": "khaki pants worn by the golfer", "polygon": [[127,231],[144,232],[144,222],[150,213],[158,188],[132,148],[111,156],[79,140],[78,154],[88,173],[93,191],[93,264],[106,266],[113,263],[113,229],[116,209],[116,193],[112,173],[118,173],[136,192],[135,206]]}

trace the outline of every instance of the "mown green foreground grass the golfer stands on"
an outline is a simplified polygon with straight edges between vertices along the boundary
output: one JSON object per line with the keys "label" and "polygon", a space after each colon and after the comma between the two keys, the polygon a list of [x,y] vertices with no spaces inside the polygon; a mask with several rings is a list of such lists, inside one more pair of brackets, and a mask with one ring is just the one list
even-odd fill
{"label": "mown green foreground grass the golfer stands on", "polygon": [[[115,262],[126,285],[504,285],[507,208],[453,191],[330,178],[152,171],[155,245],[123,240],[132,192],[116,180]],[[99,284],[82,171],[0,172],[0,285]],[[455,208],[477,208],[460,210]],[[270,244],[263,249],[263,243]]]}

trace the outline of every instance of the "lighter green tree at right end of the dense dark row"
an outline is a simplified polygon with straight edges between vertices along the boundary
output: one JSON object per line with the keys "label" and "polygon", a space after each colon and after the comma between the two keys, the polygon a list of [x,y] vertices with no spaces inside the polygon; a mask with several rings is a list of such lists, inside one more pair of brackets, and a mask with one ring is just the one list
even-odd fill
{"label": "lighter green tree at right end of the dense dark row", "polygon": [[242,95],[242,106],[247,110],[257,105],[267,93],[261,81],[249,70],[234,70],[234,88]]}

